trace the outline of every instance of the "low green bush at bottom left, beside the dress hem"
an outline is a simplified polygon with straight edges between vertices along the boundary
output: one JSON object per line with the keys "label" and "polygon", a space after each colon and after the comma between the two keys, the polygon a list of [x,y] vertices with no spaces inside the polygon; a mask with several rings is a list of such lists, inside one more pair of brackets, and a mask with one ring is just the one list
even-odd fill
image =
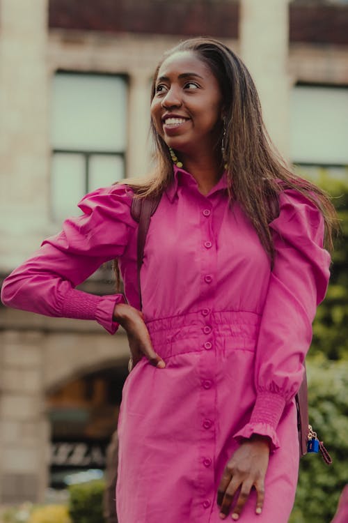
{"label": "low green bush at bottom left, beside the dress hem", "polygon": [[69,514],[73,523],[104,523],[102,500],[103,480],[89,481],[69,487]]}

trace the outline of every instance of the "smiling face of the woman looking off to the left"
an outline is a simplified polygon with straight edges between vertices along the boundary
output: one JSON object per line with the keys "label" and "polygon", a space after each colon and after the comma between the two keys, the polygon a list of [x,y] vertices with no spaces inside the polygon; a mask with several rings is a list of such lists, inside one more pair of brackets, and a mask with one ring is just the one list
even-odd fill
{"label": "smiling face of the woman looking off to the left", "polygon": [[213,151],[222,123],[221,106],[219,84],[198,54],[176,52],[162,63],[151,116],[168,146],[187,154]]}

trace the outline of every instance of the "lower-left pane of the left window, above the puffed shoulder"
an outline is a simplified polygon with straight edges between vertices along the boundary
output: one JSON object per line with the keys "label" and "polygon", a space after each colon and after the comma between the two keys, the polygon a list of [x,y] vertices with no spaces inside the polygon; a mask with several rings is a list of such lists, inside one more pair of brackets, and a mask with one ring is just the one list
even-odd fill
{"label": "lower-left pane of the left window, above the puffed shoulder", "polygon": [[77,203],[86,194],[86,167],[81,154],[54,154],[52,160],[52,211],[55,221],[78,215]]}

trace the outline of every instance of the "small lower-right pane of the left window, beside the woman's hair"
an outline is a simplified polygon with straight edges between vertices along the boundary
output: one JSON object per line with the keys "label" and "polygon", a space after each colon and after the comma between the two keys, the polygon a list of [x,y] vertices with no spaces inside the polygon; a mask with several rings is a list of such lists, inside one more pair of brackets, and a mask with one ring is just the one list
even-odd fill
{"label": "small lower-right pane of the left window, beside the woman's hair", "polygon": [[93,155],[89,162],[88,191],[107,187],[125,177],[122,156]]}

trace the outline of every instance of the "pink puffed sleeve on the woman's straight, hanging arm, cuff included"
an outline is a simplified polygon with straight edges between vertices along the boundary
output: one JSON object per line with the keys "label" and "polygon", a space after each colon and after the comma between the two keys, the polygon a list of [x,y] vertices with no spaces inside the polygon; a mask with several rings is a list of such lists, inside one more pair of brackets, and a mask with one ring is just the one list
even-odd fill
{"label": "pink puffed sleeve on the woman's straight, hanging arm, cuff included", "polygon": [[269,225],[276,257],[255,355],[257,396],[250,422],[235,434],[237,439],[268,436],[273,449],[279,446],[276,429],[285,405],[301,385],[331,262],[323,248],[324,219],[317,207],[296,190],[283,190],[279,203],[278,218]]}

